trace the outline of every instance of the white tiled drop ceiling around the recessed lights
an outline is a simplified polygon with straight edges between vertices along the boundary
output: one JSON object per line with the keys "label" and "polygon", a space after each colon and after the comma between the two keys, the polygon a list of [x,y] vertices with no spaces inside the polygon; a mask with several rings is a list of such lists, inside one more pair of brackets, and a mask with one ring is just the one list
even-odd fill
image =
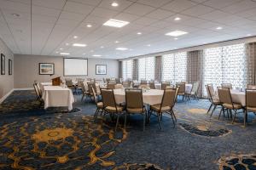
{"label": "white tiled drop ceiling around the recessed lights", "polygon": [[[102,26],[109,19],[130,24]],[[189,33],[165,35],[176,30]],[[15,54],[123,59],[255,35],[253,0],[0,0],[0,37]]]}

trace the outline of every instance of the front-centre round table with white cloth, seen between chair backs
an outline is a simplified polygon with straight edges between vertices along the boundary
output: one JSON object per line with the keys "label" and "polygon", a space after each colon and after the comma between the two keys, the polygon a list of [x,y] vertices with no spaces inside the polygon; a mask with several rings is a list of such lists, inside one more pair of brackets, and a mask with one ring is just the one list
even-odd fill
{"label": "front-centre round table with white cloth, seen between chair backs", "polygon": [[[125,103],[125,89],[113,89],[113,94],[117,104]],[[148,105],[160,104],[163,94],[163,90],[150,89],[143,92],[143,102]]]}

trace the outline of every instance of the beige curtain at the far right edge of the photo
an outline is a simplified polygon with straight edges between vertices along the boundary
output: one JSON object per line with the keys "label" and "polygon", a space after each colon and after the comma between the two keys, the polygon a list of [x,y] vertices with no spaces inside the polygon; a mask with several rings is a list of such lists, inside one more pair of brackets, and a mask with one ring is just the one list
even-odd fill
{"label": "beige curtain at the far right edge of the photo", "polygon": [[247,83],[256,84],[256,42],[246,44]]}

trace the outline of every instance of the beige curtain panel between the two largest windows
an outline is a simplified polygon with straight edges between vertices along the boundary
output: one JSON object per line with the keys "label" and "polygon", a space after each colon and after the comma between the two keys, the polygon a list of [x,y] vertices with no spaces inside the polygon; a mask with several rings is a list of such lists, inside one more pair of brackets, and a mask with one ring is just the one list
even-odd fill
{"label": "beige curtain panel between the two largest windows", "polygon": [[198,96],[202,96],[203,50],[189,51],[187,55],[187,82],[200,82]]}

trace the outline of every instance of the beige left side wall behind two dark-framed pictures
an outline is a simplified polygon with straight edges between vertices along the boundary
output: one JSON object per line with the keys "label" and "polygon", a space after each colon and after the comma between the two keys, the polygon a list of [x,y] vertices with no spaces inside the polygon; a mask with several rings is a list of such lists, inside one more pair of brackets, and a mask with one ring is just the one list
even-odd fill
{"label": "beige left side wall behind two dark-framed pictures", "polygon": [[[14,68],[14,54],[6,46],[6,44],[0,38],[0,54],[5,55],[5,75],[0,75],[0,103],[3,100],[3,97],[8,94],[14,88],[14,69],[13,75],[9,75],[9,59],[13,60]],[[0,65],[1,68],[1,65]]]}

